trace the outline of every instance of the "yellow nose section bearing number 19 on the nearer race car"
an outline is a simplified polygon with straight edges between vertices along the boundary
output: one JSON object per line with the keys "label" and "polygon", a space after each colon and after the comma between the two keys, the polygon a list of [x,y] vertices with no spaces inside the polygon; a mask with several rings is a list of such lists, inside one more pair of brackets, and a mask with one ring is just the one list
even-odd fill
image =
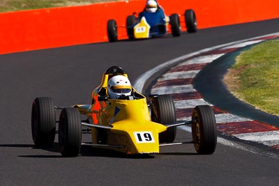
{"label": "yellow nose section bearing number 19 on the nearer race car", "polygon": [[107,144],[126,146],[123,151],[129,154],[159,153],[158,134],[167,127],[151,121],[146,100],[109,102],[102,119],[112,125]]}

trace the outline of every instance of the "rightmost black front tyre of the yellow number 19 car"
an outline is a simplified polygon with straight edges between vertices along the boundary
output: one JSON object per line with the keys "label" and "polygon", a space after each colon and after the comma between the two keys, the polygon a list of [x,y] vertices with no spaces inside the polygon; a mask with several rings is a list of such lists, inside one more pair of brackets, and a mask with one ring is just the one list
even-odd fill
{"label": "rightmost black front tyre of the yellow number 19 car", "polygon": [[217,144],[217,127],[215,115],[209,105],[199,105],[193,110],[192,137],[197,153],[202,155],[214,153]]}

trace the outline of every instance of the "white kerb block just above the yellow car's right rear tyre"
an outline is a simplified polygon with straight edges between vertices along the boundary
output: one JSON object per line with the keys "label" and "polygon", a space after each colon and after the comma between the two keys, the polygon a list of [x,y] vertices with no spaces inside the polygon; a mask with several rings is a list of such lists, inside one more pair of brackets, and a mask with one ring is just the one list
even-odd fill
{"label": "white kerb block just above the yellow car's right rear tyre", "polygon": [[182,86],[162,86],[158,88],[153,88],[151,93],[153,94],[171,94],[171,93],[191,93],[196,90],[193,88],[192,84],[186,84]]}

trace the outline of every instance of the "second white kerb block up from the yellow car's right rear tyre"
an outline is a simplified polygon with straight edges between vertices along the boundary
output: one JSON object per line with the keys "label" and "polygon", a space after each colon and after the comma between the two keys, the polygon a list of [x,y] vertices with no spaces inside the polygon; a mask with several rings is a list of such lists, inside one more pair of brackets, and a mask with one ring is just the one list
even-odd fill
{"label": "second white kerb block up from the yellow car's right rear tyre", "polygon": [[163,75],[159,81],[166,81],[172,79],[188,79],[194,78],[200,70],[188,70],[188,71],[181,71],[181,72],[169,72]]}

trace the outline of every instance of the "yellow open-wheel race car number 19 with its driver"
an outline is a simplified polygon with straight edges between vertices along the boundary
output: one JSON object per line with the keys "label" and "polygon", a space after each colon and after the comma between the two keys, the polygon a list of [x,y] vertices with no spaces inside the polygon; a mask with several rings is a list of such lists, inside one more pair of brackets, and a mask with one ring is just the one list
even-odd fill
{"label": "yellow open-wheel race car number 19 with its driver", "polygon": [[[61,110],[59,120],[56,110]],[[195,107],[190,121],[176,121],[174,101],[169,95],[146,98],[130,86],[128,75],[117,66],[103,73],[90,104],[56,107],[51,98],[36,98],[31,114],[36,146],[54,144],[56,123],[63,157],[76,157],[82,145],[150,154],[159,153],[160,146],[194,144],[197,153],[212,154],[217,144],[216,118],[209,105]],[[174,142],[179,125],[192,125],[193,141]],[[82,142],[82,126],[91,129],[91,143]]]}

